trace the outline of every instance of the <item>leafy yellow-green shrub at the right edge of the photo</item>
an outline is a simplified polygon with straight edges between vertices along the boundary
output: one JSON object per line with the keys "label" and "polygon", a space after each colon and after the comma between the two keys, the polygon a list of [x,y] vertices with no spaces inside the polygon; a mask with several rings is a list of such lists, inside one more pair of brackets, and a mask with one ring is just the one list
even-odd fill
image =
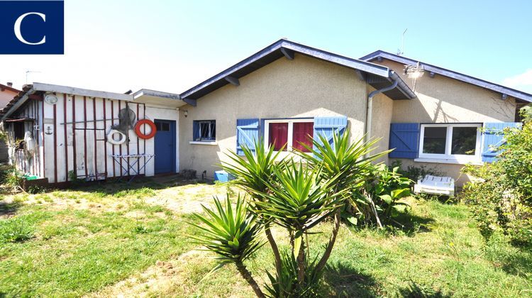
{"label": "leafy yellow-green shrub at the right edge of the photo", "polygon": [[484,238],[502,231],[518,244],[532,244],[532,119],[523,128],[505,128],[497,161],[463,171],[478,178],[465,184],[462,199],[472,205]]}

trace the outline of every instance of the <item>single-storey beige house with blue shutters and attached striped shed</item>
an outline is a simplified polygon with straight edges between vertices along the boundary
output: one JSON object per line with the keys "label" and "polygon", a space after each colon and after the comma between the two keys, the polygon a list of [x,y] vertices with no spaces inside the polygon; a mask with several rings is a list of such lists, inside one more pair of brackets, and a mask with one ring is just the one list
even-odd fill
{"label": "single-storey beige house with blue shutters and attached striped shed", "polygon": [[[404,75],[405,69],[415,72]],[[57,96],[56,104],[43,101],[48,94]],[[62,124],[65,117],[74,121],[72,98],[80,123],[75,130]],[[289,155],[302,149],[299,142],[309,143],[308,135],[331,136],[349,126],[352,141],[381,138],[378,150],[395,148],[383,162],[427,165],[462,184],[462,165],[494,160],[490,145],[501,136],[492,128],[516,126],[516,110],[532,102],[532,95],[382,51],[358,60],[279,40],[182,94],[110,94],[35,83],[15,101],[0,112],[1,121],[33,121],[24,131],[34,127],[43,157],[34,158],[33,172],[50,182],[66,181],[72,169],[77,177],[115,177],[121,170],[110,155],[119,148],[155,153],[145,175],[190,169],[214,177],[218,164],[229,161],[229,150],[241,153],[253,139],[264,138],[275,148],[287,143],[283,154]],[[129,142],[109,145],[109,119],[126,104],[140,119],[160,119],[155,140],[140,140],[130,131]],[[113,116],[106,116],[104,106]],[[33,114],[24,116],[28,109]],[[102,120],[98,130],[82,130],[94,128],[94,118]],[[482,133],[482,126],[490,129]]]}

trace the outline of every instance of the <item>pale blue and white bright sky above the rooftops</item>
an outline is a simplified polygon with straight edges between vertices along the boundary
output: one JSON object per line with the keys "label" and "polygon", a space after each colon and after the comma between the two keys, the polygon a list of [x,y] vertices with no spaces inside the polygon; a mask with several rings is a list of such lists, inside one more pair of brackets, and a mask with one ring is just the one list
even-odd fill
{"label": "pale blue and white bright sky above the rooftops", "polygon": [[526,0],[65,0],[65,55],[0,55],[0,83],[181,93],[280,38],[358,58],[397,53],[408,29],[405,57],[532,93],[531,13]]}

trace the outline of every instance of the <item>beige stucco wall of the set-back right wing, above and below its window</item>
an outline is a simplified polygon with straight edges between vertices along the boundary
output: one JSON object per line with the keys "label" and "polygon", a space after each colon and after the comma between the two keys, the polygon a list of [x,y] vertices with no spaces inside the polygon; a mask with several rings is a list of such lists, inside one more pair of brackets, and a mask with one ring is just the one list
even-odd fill
{"label": "beige stucco wall of the set-back right wing, above and below its window", "polygon": [[[414,89],[414,82],[404,75],[404,65],[383,60],[379,62],[401,75],[401,78]],[[513,122],[516,101],[513,98],[501,100],[501,94],[436,75],[431,78],[426,72],[417,79],[414,92],[417,97],[411,100],[392,101],[392,123],[484,123]],[[377,113],[377,111],[376,111]],[[375,114],[374,114],[375,115]],[[389,160],[392,162],[393,160]],[[421,165],[435,168],[445,175],[455,178],[458,185],[470,180],[461,175],[462,165],[442,164],[433,162],[414,162],[401,159],[404,167]]]}

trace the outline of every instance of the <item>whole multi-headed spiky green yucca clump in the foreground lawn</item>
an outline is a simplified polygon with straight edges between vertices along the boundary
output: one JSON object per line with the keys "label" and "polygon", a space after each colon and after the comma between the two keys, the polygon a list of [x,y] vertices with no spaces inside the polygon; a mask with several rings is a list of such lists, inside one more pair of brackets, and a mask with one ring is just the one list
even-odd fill
{"label": "whole multi-headed spiky green yucca clump in the foreground lawn", "polygon": [[[207,250],[221,255],[221,264],[235,263],[255,293],[262,296],[242,260],[259,247],[257,233],[260,227],[264,227],[275,256],[276,269],[275,276],[268,273],[272,285],[266,287],[267,292],[272,297],[312,295],[336,242],[340,211],[353,197],[353,192],[362,187],[371,162],[387,153],[370,155],[376,142],[364,143],[360,140],[350,144],[349,131],[343,135],[334,133],[332,145],[325,137],[317,136],[312,147],[303,144],[310,154],[297,153],[301,157],[300,162],[279,158],[280,150],[276,153],[274,148],[267,148],[261,140],[255,143],[255,150],[243,146],[244,158],[228,153],[231,162],[223,162],[221,167],[235,177],[231,183],[250,194],[247,207],[240,199],[237,202],[240,206],[238,212],[246,214],[246,219],[250,216],[243,228],[246,233],[238,233],[238,237],[237,233],[230,233],[233,230],[226,227],[235,225],[230,220],[233,217],[228,216],[230,203],[227,201],[224,209],[218,202],[217,211],[205,209],[208,217],[196,214],[204,223],[196,225],[204,233],[196,239]],[[248,211],[243,211],[246,208]],[[334,214],[334,226],[325,251],[321,255],[310,255],[308,237],[305,236],[331,214]],[[274,224],[288,231],[291,253],[279,252],[270,232],[270,226]]]}

